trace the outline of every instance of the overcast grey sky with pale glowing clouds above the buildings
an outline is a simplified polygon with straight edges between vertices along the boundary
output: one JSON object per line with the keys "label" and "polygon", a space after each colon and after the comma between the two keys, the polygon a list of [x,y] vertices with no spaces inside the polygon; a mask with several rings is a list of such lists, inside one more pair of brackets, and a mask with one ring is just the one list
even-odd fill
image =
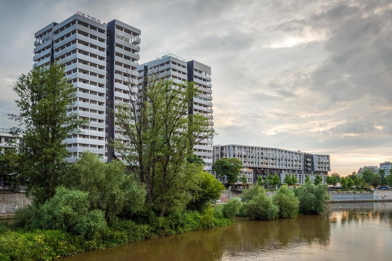
{"label": "overcast grey sky with pale glowing clouds above the buildings", "polygon": [[391,0],[0,0],[0,128],[34,32],[77,11],[142,30],[140,63],[211,66],[214,144],[330,154],[343,175],[392,161]]}

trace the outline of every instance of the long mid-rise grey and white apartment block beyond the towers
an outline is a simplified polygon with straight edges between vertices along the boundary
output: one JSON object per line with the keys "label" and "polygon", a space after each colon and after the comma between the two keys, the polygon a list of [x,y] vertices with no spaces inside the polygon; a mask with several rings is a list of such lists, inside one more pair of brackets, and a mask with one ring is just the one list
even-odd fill
{"label": "long mid-rise grey and white apartment block beyond the towers", "polygon": [[[243,169],[238,177],[247,177],[249,183],[255,183],[258,176],[277,173],[281,183],[285,175],[294,175],[297,184],[304,184],[305,177],[309,176],[313,181],[316,175],[320,175],[325,182],[330,169],[330,157],[326,154],[309,154],[301,151],[284,150],[281,148],[257,147],[246,145],[214,145],[213,162],[221,158],[236,158],[243,163]],[[250,179],[249,172],[252,172]],[[225,177],[216,177],[223,183],[227,183]],[[241,183],[238,181],[238,183]]]}

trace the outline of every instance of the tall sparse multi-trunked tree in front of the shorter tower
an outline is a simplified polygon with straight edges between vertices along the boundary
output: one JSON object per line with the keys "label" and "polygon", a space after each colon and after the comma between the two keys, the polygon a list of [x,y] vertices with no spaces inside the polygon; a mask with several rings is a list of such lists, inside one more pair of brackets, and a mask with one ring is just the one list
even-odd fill
{"label": "tall sparse multi-trunked tree in front of the shorter tower", "polygon": [[[191,100],[200,94],[193,82],[157,79],[152,72],[140,91],[132,78],[129,103],[116,104],[116,128],[122,137],[112,145],[131,166],[138,182],[145,184],[147,203],[160,216],[185,207],[189,189],[197,186],[200,166],[187,161],[193,147],[215,134],[211,120],[189,114]],[[121,139],[129,142],[123,143]]]}

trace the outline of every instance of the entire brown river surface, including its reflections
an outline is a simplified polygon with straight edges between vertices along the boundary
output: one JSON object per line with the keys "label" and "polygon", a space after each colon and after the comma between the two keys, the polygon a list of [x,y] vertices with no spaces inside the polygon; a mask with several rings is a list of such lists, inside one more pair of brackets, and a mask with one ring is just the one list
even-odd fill
{"label": "entire brown river surface, including its reflections", "polygon": [[325,215],[234,225],[65,257],[123,260],[392,260],[392,202],[333,203]]}

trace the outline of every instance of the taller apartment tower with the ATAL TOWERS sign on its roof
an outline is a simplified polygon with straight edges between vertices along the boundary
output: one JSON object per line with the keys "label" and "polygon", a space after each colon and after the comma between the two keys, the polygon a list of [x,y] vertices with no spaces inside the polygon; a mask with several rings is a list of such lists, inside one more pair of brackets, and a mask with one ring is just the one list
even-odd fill
{"label": "taller apartment tower with the ATAL TOWERS sign on its roof", "polygon": [[124,79],[137,80],[140,33],[121,21],[101,23],[78,12],[34,34],[33,66],[64,64],[65,77],[76,88],[69,113],[90,120],[88,126],[79,126],[83,134],[65,139],[68,161],[87,150],[105,161],[118,157],[109,145],[117,137],[111,111],[116,101],[129,102]]}

